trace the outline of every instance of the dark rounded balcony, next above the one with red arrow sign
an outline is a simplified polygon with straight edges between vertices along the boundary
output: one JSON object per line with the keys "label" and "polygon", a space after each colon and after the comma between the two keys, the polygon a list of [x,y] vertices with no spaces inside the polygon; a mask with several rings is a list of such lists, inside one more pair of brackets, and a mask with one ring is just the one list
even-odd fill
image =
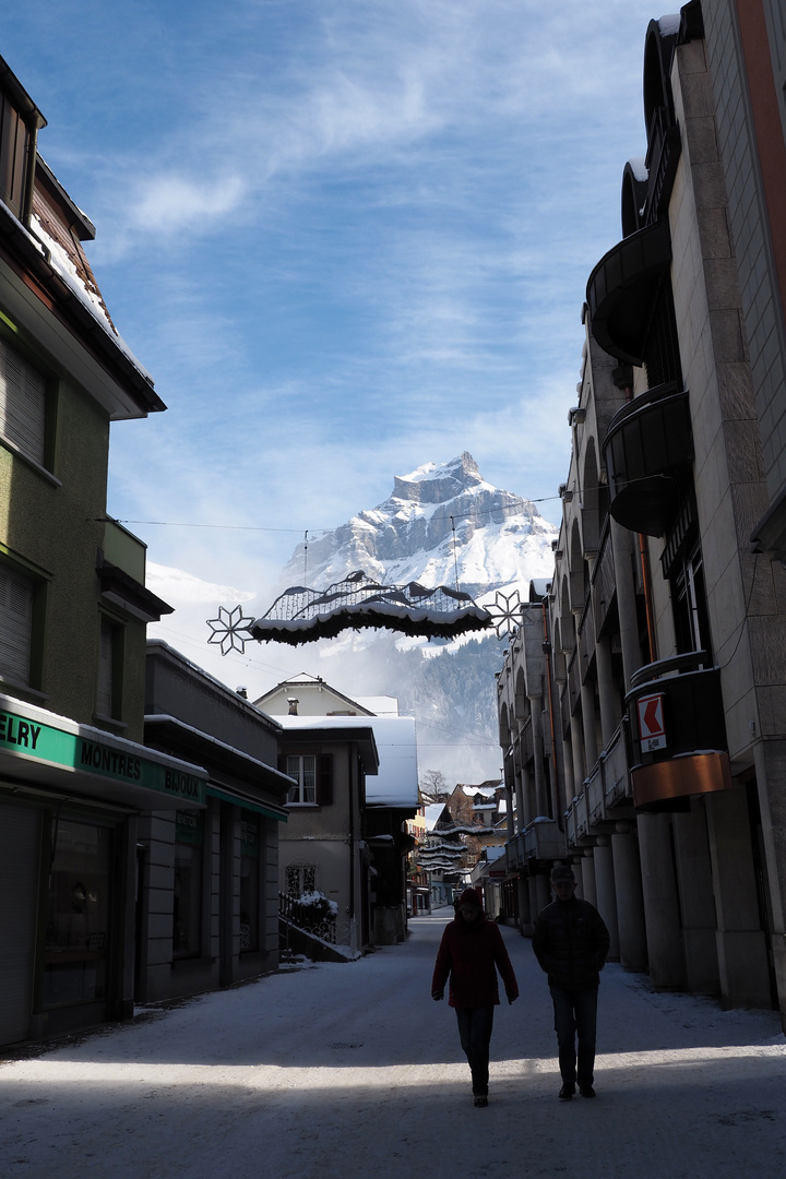
{"label": "dark rounded balcony, next above the one with red arrow sign", "polygon": [[629,401],[612,419],[603,456],[614,519],[632,532],[662,536],[693,463],[687,391],[661,384]]}

